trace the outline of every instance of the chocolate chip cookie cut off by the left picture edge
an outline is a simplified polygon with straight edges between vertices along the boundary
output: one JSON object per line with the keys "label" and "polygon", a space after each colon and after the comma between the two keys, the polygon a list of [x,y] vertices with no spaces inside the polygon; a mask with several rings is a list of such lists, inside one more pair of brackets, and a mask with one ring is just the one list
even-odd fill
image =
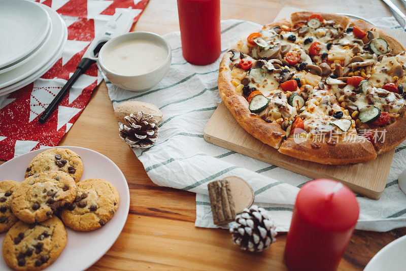
{"label": "chocolate chip cookie cut off by the left picture edge", "polygon": [[18,221],[10,206],[14,191],[19,185],[20,183],[10,180],[0,182],[0,232],[7,231]]}

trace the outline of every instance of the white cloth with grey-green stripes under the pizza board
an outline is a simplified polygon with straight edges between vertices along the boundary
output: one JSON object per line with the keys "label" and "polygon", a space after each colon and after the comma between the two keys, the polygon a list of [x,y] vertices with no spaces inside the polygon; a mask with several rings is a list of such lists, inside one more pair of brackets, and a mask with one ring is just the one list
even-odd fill
{"label": "white cloth with grey-green stripes under the pizza board", "polygon": [[[258,27],[259,24],[248,21],[222,21],[223,53],[236,39]],[[158,85],[135,93],[107,82],[114,107],[122,101],[140,100],[157,106],[163,113],[158,142],[150,149],[134,150],[148,176],[157,185],[195,192],[195,225],[209,228],[217,226],[213,224],[207,184],[225,176],[241,177],[252,186],[255,204],[270,211],[277,230],[287,231],[296,194],[310,178],[207,143],[203,129],[221,103],[217,86],[221,57],[210,65],[192,65],[182,57],[179,32],[168,33],[164,38],[171,44],[173,63]],[[396,148],[381,199],[358,195],[358,229],[386,231],[406,226],[406,195],[397,185],[397,176],[405,168],[404,148],[405,143]]]}

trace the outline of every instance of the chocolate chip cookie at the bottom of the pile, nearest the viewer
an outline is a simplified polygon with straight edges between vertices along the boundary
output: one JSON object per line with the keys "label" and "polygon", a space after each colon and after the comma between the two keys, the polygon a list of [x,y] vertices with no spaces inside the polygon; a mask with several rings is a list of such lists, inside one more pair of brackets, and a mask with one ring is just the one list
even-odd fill
{"label": "chocolate chip cookie at the bottom of the pile, nearest the viewer", "polygon": [[38,224],[18,221],[7,232],[3,258],[15,270],[42,270],[53,263],[66,245],[66,230],[57,217]]}

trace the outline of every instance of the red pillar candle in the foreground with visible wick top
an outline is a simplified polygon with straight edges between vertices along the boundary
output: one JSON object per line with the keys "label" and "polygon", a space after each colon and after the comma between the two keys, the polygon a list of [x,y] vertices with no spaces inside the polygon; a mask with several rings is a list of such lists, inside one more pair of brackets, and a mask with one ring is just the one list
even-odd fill
{"label": "red pillar candle in the foreground with visible wick top", "polygon": [[341,183],[319,179],[300,189],[285,247],[292,271],[335,270],[359,215],[354,193]]}

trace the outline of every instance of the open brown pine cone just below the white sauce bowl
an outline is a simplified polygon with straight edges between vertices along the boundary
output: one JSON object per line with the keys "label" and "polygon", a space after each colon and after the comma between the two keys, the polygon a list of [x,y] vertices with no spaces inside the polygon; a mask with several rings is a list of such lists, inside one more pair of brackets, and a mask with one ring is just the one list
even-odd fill
{"label": "open brown pine cone just below the white sauce bowl", "polygon": [[150,148],[157,141],[159,128],[158,121],[152,115],[138,112],[124,117],[128,125],[120,123],[119,137],[131,148]]}

